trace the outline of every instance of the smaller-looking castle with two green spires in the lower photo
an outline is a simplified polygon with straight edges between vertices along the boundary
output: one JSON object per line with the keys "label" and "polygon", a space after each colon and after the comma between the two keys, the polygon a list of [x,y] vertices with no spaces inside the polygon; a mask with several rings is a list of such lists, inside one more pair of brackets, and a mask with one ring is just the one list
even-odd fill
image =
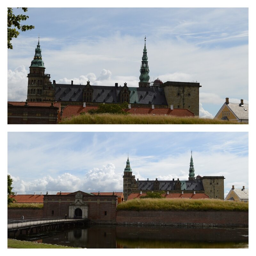
{"label": "smaller-looking castle with two green spires in the lower photo", "polygon": [[132,175],[129,157],[126,161],[123,176],[124,200],[131,193],[146,193],[156,191],[163,193],[205,193],[209,198],[224,200],[224,176],[203,176],[197,175],[195,178],[195,169],[191,151],[188,180],[139,180]]}

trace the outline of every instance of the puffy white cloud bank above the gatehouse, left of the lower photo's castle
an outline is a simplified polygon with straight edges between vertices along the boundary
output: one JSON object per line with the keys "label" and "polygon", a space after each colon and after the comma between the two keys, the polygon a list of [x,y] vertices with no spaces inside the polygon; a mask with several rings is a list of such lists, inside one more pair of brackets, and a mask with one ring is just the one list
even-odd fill
{"label": "puffy white cloud bank above the gatehouse, left of the lower photo's castle", "polygon": [[11,176],[13,179],[13,192],[18,194],[49,194],[57,192],[74,192],[82,190],[84,192],[112,192],[123,189],[121,173],[115,172],[115,165],[109,163],[102,168],[93,168],[85,173],[85,178],[80,178],[68,172],[53,178],[51,175],[33,181],[20,180],[19,177]]}

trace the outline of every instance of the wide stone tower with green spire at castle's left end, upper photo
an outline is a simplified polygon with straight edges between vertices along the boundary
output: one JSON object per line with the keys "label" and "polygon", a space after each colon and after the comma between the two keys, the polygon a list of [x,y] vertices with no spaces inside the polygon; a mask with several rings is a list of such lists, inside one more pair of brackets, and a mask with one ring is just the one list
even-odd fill
{"label": "wide stone tower with green spire at castle's left end, upper photo", "polygon": [[55,85],[50,82],[50,74],[44,74],[44,61],[42,60],[42,50],[39,44],[35,49],[34,59],[31,61],[28,74],[28,101],[53,101],[55,95]]}

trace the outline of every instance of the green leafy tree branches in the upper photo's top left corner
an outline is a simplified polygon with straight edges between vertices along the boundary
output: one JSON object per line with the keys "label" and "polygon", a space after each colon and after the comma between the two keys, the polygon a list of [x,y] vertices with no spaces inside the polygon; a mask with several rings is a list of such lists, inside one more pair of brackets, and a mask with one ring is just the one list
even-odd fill
{"label": "green leafy tree branches in the upper photo's top left corner", "polygon": [[[18,7],[21,8],[24,12],[28,11],[28,8],[25,7]],[[7,8],[7,48],[8,49],[13,49],[11,40],[13,37],[18,37],[20,35],[20,32],[16,30],[18,28],[20,31],[26,31],[26,30],[31,30],[35,28],[35,26],[32,25],[21,25],[20,21],[21,20],[27,20],[28,16],[27,15],[14,15],[13,14],[13,9],[8,7]],[[16,28],[15,28],[16,27]]]}

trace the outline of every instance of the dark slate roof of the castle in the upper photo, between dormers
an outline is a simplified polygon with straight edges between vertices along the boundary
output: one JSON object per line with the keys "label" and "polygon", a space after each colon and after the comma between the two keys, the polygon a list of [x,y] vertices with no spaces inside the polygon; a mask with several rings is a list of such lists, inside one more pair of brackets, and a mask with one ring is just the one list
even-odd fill
{"label": "dark slate roof of the castle in the upper photo, between dormers", "polygon": [[[123,86],[91,85],[93,89],[92,102],[120,102],[120,92]],[[85,85],[55,84],[55,100],[83,102],[83,89]],[[130,90],[130,103],[167,105],[164,91],[158,87],[140,88],[128,87]]]}

